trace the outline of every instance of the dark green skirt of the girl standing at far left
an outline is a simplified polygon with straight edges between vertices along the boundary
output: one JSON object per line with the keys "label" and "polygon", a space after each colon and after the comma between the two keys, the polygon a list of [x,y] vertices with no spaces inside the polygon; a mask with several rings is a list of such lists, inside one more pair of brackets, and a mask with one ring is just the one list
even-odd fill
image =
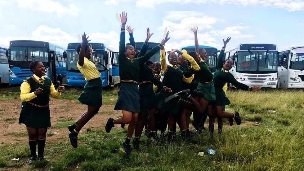
{"label": "dark green skirt of the girl standing at far left", "polygon": [[50,127],[50,107],[38,107],[27,102],[22,102],[19,124],[25,124],[31,128]]}

